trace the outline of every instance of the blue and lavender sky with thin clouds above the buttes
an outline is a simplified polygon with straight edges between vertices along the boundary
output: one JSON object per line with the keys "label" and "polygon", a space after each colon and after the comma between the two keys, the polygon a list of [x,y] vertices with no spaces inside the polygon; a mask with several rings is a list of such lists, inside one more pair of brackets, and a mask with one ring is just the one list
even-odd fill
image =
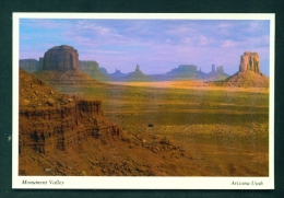
{"label": "blue and lavender sky with thin clouds above the buttes", "polygon": [[212,65],[238,71],[240,56],[256,51],[269,75],[268,20],[74,20],[21,19],[20,59],[39,59],[54,46],[69,45],[79,60],[95,60],[108,73],[135,70],[162,74],[179,65],[210,72]]}

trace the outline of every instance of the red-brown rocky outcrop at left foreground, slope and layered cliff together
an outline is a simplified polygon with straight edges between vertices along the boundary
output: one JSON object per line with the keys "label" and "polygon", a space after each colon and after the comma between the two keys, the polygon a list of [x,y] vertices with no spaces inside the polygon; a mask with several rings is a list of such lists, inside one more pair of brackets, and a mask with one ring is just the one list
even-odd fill
{"label": "red-brown rocky outcrop at left foreground, slope and layered cliff together", "polygon": [[120,128],[103,116],[100,101],[57,93],[20,70],[19,151],[39,153],[78,147],[87,137],[116,137]]}

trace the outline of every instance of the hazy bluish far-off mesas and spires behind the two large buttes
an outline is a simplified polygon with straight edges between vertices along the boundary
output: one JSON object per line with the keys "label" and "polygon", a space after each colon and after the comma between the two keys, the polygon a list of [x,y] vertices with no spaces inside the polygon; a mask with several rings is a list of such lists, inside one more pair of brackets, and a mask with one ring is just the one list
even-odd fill
{"label": "hazy bluish far-off mesas and spires behind the two large buttes", "polygon": [[[229,77],[222,70],[213,70],[210,73],[198,70],[194,65],[180,65],[177,68],[163,74],[144,74],[141,67],[137,66],[133,72],[123,73],[116,69],[114,73],[108,73],[105,68],[100,68],[94,60],[79,60],[79,69],[90,77],[99,81],[170,81],[170,80],[224,80]],[[36,59],[20,59],[20,68],[34,73],[42,70],[39,61]],[[217,67],[218,68],[218,67]]]}

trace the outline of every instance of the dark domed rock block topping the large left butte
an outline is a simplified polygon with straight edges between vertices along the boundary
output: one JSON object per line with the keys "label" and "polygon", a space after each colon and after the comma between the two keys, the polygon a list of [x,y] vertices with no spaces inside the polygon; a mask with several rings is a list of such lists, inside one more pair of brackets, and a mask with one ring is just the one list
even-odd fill
{"label": "dark domed rock block topping the large left butte", "polygon": [[61,45],[45,53],[43,70],[76,70],[79,69],[79,55],[71,46]]}

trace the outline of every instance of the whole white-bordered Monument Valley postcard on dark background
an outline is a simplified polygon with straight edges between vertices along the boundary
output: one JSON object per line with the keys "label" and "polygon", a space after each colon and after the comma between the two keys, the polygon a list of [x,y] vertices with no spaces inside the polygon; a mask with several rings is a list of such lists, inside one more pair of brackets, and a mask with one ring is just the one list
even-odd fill
{"label": "whole white-bordered Monument Valley postcard on dark background", "polygon": [[13,188],[274,189],[274,18],[13,13]]}

